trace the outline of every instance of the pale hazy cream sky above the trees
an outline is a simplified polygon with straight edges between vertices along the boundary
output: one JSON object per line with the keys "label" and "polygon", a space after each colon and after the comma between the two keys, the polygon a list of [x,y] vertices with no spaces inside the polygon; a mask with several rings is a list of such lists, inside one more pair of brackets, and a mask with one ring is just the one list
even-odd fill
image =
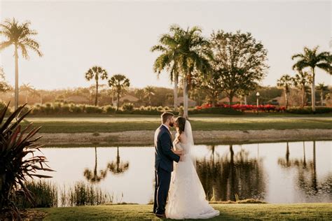
{"label": "pale hazy cream sky above the trees", "polygon": [[[167,73],[153,73],[158,53],[150,52],[171,24],[213,30],[251,32],[268,50],[270,69],[263,85],[276,85],[291,69],[291,55],[303,47],[329,50],[331,1],[6,1],[0,20],[29,20],[38,31],[43,57],[29,52],[19,59],[19,84],[53,90],[92,85],[84,73],[102,66],[109,76],[122,73],[132,87],[172,87]],[[0,52],[6,80],[14,83],[13,47]],[[317,70],[317,83],[332,78]],[[106,83],[106,81],[102,82]]]}

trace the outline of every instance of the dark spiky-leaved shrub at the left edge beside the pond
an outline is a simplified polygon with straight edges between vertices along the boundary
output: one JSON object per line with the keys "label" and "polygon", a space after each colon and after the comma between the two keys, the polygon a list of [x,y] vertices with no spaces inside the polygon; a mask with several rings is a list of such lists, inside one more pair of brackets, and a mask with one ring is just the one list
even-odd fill
{"label": "dark spiky-leaved shrub at the left edge beside the pond", "polygon": [[[24,193],[27,200],[34,204],[34,198],[25,185],[27,177],[50,178],[38,174],[39,171],[53,171],[45,164],[46,157],[36,155],[41,147],[36,143],[40,138],[34,138],[39,128],[31,128],[32,124],[21,129],[20,122],[25,119],[29,111],[22,113],[25,108],[20,106],[4,122],[8,106],[0,113],[0,213],[5,209],[11,209],[16,219],[20,220],[18,208],[13,204],[13,199],[20,193]],[[19,189],[21,188],[21,190]]]}

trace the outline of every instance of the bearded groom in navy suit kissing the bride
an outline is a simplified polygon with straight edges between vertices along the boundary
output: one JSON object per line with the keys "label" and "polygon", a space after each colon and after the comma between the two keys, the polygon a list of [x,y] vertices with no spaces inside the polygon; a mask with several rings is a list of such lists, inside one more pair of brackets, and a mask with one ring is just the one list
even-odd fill
{"label": "bearded groom in navy suit kissing the bride", "polygon": [[162,124],[155,130],[155,199],[153,213],[165,218],[165,206],[170,189],[173,162],[179,162],[180,156],[172,152],[173,142],[170,127],[174,126],[174,115],[162,113]]}

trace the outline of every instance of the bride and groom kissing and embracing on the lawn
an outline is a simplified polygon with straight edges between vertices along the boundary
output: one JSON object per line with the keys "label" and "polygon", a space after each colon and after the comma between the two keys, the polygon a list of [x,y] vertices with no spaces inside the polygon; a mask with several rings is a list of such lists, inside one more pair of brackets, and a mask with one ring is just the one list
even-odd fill
{"label": "bride and groom kissing and embracing on the lawn", "polygon": [[[206,200],[191,156],[193,132],[184,117],[162,113],[155,131],[155,196],[153,213],[159,218],[207,219],[219,215]],[[172,141],[170,127],[177,134]]]}

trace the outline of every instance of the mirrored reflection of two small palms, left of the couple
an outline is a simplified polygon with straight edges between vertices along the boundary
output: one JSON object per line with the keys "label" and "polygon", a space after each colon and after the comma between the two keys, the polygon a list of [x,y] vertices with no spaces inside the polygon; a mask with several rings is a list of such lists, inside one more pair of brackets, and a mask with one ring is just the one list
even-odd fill
{"label": "mirrored reflection of two small palms, left of the couple", "polygon": [[97,171],[97,165],[97,147],[95,147],[95,167],[93,170],[85,168],[83,172],[83,176],[89,183],[99,183],[101,180],[104,180],[108,171],[116,175],[124,173],[129,169],[129,162],[122,162],[120,159],[119,148],[117,148],[116,160],[109,162],[106,169]]}

